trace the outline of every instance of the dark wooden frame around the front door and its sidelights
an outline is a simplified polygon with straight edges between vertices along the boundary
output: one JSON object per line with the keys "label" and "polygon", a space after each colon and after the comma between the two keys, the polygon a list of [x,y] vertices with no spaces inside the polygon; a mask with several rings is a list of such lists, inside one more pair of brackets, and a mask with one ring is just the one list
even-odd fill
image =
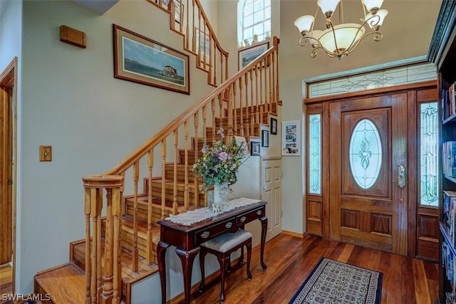
{"label": "dark wooden frame around the front door and its sidelights", "polygon": [[[418,199],[418,147],[416,147],[417,139],[418,139],[418,133],[417,133],[417,127],[418,127],[418,105],[419,105],[419,100],[420,96],[417,94],[418,91],[420,90],[427,90],[427,89],[435,89],[437,90],[437,80],[428,80],[424,81],[421,83],[410,83],[410,84],[405,84],[405,85],[397,85],[397,86],[392,86],[392,87],[387,87],[387,88],[378,88],[378,89],[373,89],[373,90],[364,90],[364,91],[358,91],[358,92],[353,92],[353,93],[346,93],[346,94],[340,94],[340,95],[329,95],[329,96],[323,96],[323,97],[318,97],[318,98],[306,98],[303,100],[303,105],[304,108],[308,109],[310,105],[317,105],[321,104],[321,119],[322,119],[322,128],[321,132],[322,134],[328,134],[328,120],[329,120],[329,103],[332,102],[340,102],[341,100],[348,100],[348,99],[353,99],[353,98],[365,98],[365,97],[373,97],[373,96],[378,96],[378,95],[390,95],[392,93],[403,93],[407,92],[408,93],[408,103],[407,103],[407,115],[410,117],[410,121],[408,122],[408,130],[410,130],[408,134],[408,139],[407,139],[407,144],[408,144],[408,159],[415,159],[415,161],[409,161],[408,164],[408,181],[415,181],[414,183],[409,183],[408,187],[408,256],[410,257],[420,257],[418,255],[418,243],[420,242],[420,231],[417,231],[418,229],[418,224],[417,219],[418,216],[420,216],[420,210],[418,208],[419,202],[417,201]],[[433,97],[431,97],[433,98]],[[429,99],[429,98],[428,98]],[[437,99],[435,99],[437,101]],[[313,111],[315,112],[315,110]],[[306,119],[307,119],[308,113],[306,112]],[[306,140],[306,147],[308,146],[309,142]],[[322,149],[322,156],[321,156],[321,176],[322,180],[325,181],[327,180],[330,176],[330,170],[329,170],[329,157],[328,157],[328,147],[329,147],[329,141],[328,141],[328,136],[323,136],[321,139],[321,149]],[[325,152],[326,151],[326,152]],[[324,239],[329,239],[330,235],[330,221],[328,221],[329,217],[329,206],[330,206],[330,198],[329,198],[329,184],[326,182],[322,182],[321,184],[321,218],[318,219],[318,221],[314,221],[314,223],[321,224],[321,234],[318,233],[311,233],[311,234],[317,234],[320,236],[323,236]],[[307,193],[307,187],[306,187],[306,193]],[[309,194],[306,194],[305,197],[305,204],[306,206],[309,204],[309,201],[311,201],[311,198],[309,198]],[[306,208],[305,206],[305,208]],[[430,211],[430,209],[427,209],[427,211]],[[438,210],[432,210],[431,212],[427,212],[426,215],[435,213],[436,216],[438,216]],[[438,218],[437,219],[437,225],[438,225]],[[306,214],[306,226],[309,223],[309,215]],[[318,231],[318,230],[316,230]],[[438,226],[437,226],[437,231],[438,233]],[[431,241],[432,237],[427,236],[426,238],[427,241]],[[438,239],[438,236],[437,238]]]}

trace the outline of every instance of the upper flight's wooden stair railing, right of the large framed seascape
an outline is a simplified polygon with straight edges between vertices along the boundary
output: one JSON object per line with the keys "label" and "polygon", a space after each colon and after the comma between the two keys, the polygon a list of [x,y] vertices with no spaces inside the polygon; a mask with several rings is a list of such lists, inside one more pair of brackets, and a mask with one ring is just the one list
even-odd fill
{"label": "upper flight's wooden stair railing, right of the large framed seascape", "polygon": [[170,28],[184,37],[186,51],[197,56],[197,68],[207,83],[217,86],[228,78],[228,52],[220,45],[199,0],[147,0],[170,13]]}

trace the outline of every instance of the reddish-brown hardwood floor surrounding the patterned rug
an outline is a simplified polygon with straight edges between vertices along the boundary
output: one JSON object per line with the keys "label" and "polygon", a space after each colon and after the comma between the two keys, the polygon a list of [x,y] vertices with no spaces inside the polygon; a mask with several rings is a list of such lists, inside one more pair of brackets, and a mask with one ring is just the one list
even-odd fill
{"label": "reddish-brown hardwood floor surrounding the patterned rug", "polygon": [[[224,303],[288,303],[321,256],[382,272],[381,303],[430,304],[437,299],[435,263],[313,236],[299,239],[281,234],[266,243],[265,272],[261,271],[257,247],[252,253],[252,280],[247,280],[244,267],[227,278]],[[219,292],[219,282],[215,281],[192,303],[219,303]]]}

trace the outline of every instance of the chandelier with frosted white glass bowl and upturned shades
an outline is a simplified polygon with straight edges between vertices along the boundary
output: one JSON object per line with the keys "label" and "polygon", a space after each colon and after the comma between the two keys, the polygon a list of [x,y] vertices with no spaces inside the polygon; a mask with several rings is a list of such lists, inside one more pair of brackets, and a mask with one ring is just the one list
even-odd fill
{"label": "chandelier with frosted white glass bowl and upturned shades", "polygon": [[[366,38],[366,36],[373,35],[374,41],[383,39],[383,35],[378,32],[380,26],[388,15],[388,11],[380,9],[383,0],[361,0],[364,12],[364,18],[361,19],[362,23],[343,23],[343,6],[339,7],[339,21],[340,24],[334,24],[331,20],[334,11],[336,11],[338,3],[341,0],[318,0],[317,4],[323,14],[326,16],[326,29],[314,30],[315,17],[311,15],[301,16],[294,25],[299,29],[302,37],[299,39],[299,45],[312,46],[311,57],[316,56],[316,51],[322,48],[329,57],[342,58],[353,52],[358,44]],[[371,31],[366,32],[366,27],[371,28]],[[366,27],[365,27],[366,26]]]}

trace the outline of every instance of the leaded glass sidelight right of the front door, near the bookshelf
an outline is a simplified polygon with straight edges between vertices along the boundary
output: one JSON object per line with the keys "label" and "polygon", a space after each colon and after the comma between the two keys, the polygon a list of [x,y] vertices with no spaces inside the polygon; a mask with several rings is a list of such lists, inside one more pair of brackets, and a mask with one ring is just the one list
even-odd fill
{"label": "leaded glass sidelight right of the front door, near the bookshelf", "polygon": [[437,103],[420,104],[420,204],[438,206]]}

